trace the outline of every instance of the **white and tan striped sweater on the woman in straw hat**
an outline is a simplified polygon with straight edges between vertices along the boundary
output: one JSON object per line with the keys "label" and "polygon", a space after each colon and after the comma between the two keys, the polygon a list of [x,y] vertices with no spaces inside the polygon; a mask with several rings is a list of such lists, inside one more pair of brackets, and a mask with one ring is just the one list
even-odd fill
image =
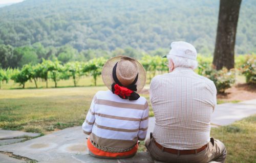
{"label": "white and tan striped sweater on the woman in straw hat", "polygon": [[100,146],[127,148],[145,139],[147,126],[148,104],[144,97],[129,101],[111,91],[99,91],[82,129]]}

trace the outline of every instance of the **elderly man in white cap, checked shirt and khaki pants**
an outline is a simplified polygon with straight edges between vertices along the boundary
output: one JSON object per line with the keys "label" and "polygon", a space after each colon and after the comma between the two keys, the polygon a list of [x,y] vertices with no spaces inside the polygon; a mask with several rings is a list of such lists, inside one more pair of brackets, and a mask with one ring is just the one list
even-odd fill
{"label": "elderly man in white cap, checked shirt and khaki pants", "polygon": [[165,162],[224,162],[224,144],[210,138],[216,87],[193,71],[197,67],[193,45],[179,41],[170,46],[166,56],[170,73],[151,81],[150,100],[156,124],[145,146],[154,159]]}

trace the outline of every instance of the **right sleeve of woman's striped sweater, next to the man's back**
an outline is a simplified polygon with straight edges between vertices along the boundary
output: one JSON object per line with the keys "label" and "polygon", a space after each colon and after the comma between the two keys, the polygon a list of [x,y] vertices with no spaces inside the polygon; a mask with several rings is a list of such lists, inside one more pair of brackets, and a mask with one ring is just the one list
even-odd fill
{"label": "right sleeve of woman's striped sweater, next to the man's back", "polygon": [[140,141],[143,141],[145,140],[146,138],[146,132],[147,132],[147,128],[148,128],[148,103],[147,101],[145,102],[145,110],[143,112],[143,115],[141,117],[141,120],[140,120],[140,129],[139,129],[139,132],[138,132],[138,139]]}

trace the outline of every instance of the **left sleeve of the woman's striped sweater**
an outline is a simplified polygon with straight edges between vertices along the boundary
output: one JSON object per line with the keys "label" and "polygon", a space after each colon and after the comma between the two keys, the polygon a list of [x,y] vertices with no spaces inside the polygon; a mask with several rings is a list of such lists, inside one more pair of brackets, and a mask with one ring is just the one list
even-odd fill
{"label": "left sleeve of the woman's striped sweater", "polygon": [[92,132],[93,124],[95,121],[95,100],[96,100],[96,95],[92,100],[90,110],[86,116],[86,120],[84,120],[82,124],[82,130],[83,130],[83,133],[85,134],[90,134]]}

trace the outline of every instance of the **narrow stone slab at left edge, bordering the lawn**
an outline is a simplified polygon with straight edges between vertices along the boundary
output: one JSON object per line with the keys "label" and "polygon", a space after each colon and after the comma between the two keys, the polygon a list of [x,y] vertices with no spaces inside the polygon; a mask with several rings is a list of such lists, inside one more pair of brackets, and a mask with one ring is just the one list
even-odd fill
{"label": "narrow stone slab at left edge, bordering the lawn", "polygon": [[23,131],[0,130],[0,139],[13,139],[20,137],[38,137],[40,133],[31,133]]}

